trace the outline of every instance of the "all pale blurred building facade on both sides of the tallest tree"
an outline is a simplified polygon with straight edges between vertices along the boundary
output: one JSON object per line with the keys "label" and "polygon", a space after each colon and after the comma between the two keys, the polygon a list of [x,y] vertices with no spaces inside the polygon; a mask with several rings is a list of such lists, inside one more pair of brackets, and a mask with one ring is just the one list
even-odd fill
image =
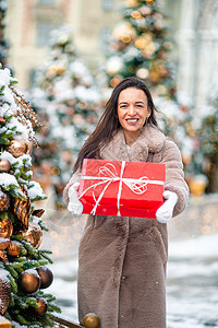
{"label": "all pale blurred building facade on both sides of the tallest tree", "polygon": [[[105,42],[119,21],[123,0],[9,0],[7,37],[9,62],[20,87],[28,87],[32,74],[47,55],[50,31],[64,22],[72,26],[75,46],[90,68],[104,58]],[[171,20],[178,89],[202,110],[218,89],[218,2],[162,0]]]}

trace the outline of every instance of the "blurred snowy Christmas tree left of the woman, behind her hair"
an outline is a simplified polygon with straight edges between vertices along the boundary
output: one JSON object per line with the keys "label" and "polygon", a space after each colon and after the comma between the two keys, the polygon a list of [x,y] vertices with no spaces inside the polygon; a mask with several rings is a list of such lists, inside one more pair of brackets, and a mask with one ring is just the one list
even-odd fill
{"label": "blurred snowy Christmas tree left of the woman, behind her hair", "polygon": [[76,55],[72,31],[64,25],[51,34],[47,61],[37,70],[31,101],[45,122],[37,137],[40,149],[34,159],[38,171],[51,164],[51,181],[57,203],[72,175],[74,160],[93,131],[99,108],[99,92],[87,67]]}

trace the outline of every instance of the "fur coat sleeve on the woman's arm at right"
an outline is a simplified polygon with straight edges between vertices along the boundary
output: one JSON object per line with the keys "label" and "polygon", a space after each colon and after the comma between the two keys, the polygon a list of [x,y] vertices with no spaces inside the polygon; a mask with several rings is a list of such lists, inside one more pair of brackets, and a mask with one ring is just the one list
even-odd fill
{"label": "fur coat sleeve on the woman's arm at right", "polygon": [[177,216],[186,207],[190,191],[184,180],[181,153],[174,142],[166,141],[161,163],[166,164],[165,190],[178,195],[178,202],[173,211],[173,216]]}

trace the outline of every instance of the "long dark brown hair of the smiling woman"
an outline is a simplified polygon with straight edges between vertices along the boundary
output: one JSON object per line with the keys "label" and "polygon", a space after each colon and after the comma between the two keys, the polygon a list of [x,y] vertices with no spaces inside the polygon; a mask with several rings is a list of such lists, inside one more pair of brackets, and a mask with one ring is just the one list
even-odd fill
{"label": "long dark brown hair of the smiling woman", "polygon": [[144,91],[147,96],[147,104],[150,109],[150,116],[147,122],[158,126],[155,117],[155,104],[153,102],[152,95],[145,83],[137,78],[126,78],[122,80],[113,90],[108,103],[106,104],[106,109],[99,119],[95,131],[89,136],[89,138],[84,143],[82,150],[78,153],[77,160],[74,165],[74,172],[82,166],[84,159],[99,159],[99,151],[102,144],[109,142],[114,133],[121,128],[120,121],[118,119],[118,98],[124,89],[135,87]]}

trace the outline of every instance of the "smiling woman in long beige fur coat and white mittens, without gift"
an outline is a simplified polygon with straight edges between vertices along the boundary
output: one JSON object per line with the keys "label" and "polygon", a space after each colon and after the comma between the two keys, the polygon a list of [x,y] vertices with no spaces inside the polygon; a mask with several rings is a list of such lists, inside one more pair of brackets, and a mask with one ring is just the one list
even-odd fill
{"label": "smiling woman in long beige fur coat and white mittens, without gift", "polygon": [[121,81],[82,148],[64,189],[68,209],[82,214],[77,186],[84,159],[164,163],[164,204],[156,219],[89,215],[78,249],[78,317],[96,313],[104,328],[166,328],[167,223],[186,206],[189,189],[177,145],[155,118],[145,83]]}

